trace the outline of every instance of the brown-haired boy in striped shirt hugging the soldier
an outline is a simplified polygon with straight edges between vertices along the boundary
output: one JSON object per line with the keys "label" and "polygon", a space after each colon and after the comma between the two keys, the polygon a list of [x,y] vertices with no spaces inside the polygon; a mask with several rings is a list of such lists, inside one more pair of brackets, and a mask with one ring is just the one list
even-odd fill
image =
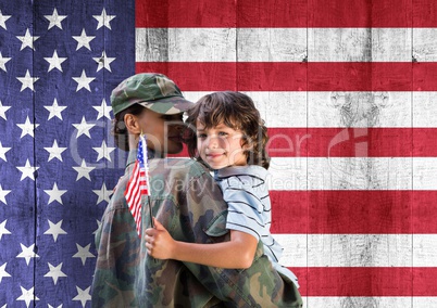
{"label": "brown-haired boy in striped shirt hugging the soldier", "polygon": [[155,221],[155,228],[146,230],[147,253],[159,259],[246,269],[262,241],[275,270],[299,287],[297,277],[279,264],[283,247],[270,231],[269,136],[252,99],[240,92],[214,92],[188,113],[187,124],[196,127],[196,133],[186,133],[188,152],[214,171],[227,203],[230,241],[216,245],[178,242]]}

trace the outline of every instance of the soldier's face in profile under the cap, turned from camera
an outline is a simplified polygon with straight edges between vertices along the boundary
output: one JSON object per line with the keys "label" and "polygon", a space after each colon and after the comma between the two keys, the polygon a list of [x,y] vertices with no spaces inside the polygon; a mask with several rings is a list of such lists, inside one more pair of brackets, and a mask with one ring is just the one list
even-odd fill
{"label": "soldier's face in profile under the cap, turned from camera", "polygon": [[183,150],[183,114],[164,115],[148,108],[138,117],[139,126],[147,137],[147,145],[162,154],[176,154]]}

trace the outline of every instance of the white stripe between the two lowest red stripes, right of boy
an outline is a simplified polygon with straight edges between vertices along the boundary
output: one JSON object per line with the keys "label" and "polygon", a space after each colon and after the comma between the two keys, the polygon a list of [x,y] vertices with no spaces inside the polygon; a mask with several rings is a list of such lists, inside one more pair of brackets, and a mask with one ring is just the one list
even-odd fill
{"label": "white stripe between the two lowest red stripes, right of boy", "polygon": [[437,234],[273,234],[286,267],[437,267]]}

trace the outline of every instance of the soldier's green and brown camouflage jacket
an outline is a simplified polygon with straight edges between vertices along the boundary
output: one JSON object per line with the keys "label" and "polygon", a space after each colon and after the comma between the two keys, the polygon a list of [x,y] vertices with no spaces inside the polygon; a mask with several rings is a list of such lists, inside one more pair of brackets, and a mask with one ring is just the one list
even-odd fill
{"label": "soldier's green and brown camouflage jacket", "polygon": [[[220,269],[176,260],[152,259],[124,198],[136,153],[105,209],[96,234],[98,258],[92,307],[301,307],[291,281],[273,270],[258,245],[246,270]],[[172,236],[192,243],[229,240],[227,206],[209,171],[190,159],[150,159],[153,216]],[[150,226],[142,205],[142,230]]]}

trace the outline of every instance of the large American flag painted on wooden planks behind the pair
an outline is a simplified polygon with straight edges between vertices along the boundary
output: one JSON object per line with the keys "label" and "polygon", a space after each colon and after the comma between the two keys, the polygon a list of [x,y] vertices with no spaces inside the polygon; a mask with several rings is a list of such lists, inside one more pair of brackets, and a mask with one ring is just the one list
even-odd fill
{"label": "large American flag painted on wooden planks behind the pair", "polygon": [[238,90],[305,307],[437,307],[433,0],[0,2],[0,307],[89,307],[111,90]]}

